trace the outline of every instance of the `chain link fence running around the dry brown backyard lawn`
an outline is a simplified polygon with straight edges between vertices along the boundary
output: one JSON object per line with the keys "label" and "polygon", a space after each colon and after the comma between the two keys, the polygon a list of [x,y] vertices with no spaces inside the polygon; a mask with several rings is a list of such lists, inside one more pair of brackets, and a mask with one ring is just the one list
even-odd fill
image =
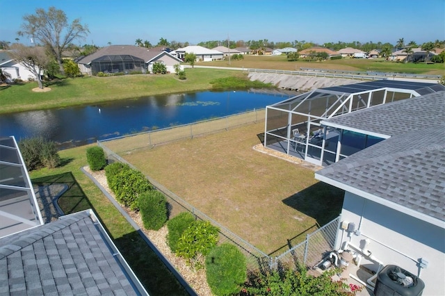
{"label": "chain link fence running around the dry brown backyard lawn", "polygon": [[[138,170],[137,167],[125,161],[119,154],[129,150],[153,147],[154,145],[159,145],[172,140],[189,137],[193,138],[193,136],[196,135],[213,133],[241,124],[248,124],[249,122],[258,122],[259,118],[264,120],[264,112],[264,110],[255,110],[250,113],[241,113],[223,117],[218,120],[207,120],[205,122],[197,122],[195,124],[187,124],[175,128],[127,135],[120,138],[100,141],[98,142],[98,145],[104,149],[109,163],[119,161],[121,163],[127,163],[134,170]],[[162,186],[161,183],[158,183],[150,176],[146,177],[156,190],[159,190],[165,195],[169,206],[170,218],[175,217],[181,212],[188,211],[195,215],[196,219],[211,222],[211,224],[220,229],[220,242],[232,243],[244,254],[250,272],[264,273],[284,265],[290,268],[298,268],[299,264],[311,268],[316,262],[321,261],[325,253],[330,252],[334,247],[335,234],[339,227],[339,217],[324,227],[321,227],[321,229],[307,234],[305,241],[291,247],[291,249],[283,252],[279,256],[270,256],[262,252],[260,249],[257,249],[257,247],[254,247],[254,245],[251,245],[249,242],[243,240],[243,238],[240,238],[229,229],[223,227],[223,225],[211,219],[211,217],[202,213],[199,209],[188,204],[184,199],[181,199],[181,197]]]}

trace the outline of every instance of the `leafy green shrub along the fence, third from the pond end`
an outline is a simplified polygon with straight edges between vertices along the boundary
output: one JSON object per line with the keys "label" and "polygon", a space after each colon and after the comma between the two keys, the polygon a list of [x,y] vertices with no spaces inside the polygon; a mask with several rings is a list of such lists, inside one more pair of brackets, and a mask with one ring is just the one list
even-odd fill
{"label": "leafy green shrub along the fence, third from the pond end", "polygon": [[115,197],[124,206],[128,206],[133,211],[138,211],[139,195],[148,190],[152,190],[152,184],[138,170],[121,170],[111,180],[110,186]]}

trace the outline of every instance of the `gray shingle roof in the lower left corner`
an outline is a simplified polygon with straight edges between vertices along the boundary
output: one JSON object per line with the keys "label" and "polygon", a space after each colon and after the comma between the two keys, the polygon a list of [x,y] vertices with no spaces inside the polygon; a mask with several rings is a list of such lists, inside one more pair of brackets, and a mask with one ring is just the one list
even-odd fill
{"label": "gray shingle roof in the lower left corner", "polygon": [[0,238],[0,295],[138,295],[89,211]]}

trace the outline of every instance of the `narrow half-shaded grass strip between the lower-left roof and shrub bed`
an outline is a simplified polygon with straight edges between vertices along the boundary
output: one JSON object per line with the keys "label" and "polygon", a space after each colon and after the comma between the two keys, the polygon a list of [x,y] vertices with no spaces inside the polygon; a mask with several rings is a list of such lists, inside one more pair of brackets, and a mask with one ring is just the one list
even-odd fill
{"label": "narrow half-shaded grass strip between the lower-left roof and shrub bed", "polygon": [[152,249],[94,183],[81,172],[87,147],[59,151],[63,165],[31,172],[33,185],[66,183],[59,199],[65,214],[92,208],[150,295],[188,295]]}

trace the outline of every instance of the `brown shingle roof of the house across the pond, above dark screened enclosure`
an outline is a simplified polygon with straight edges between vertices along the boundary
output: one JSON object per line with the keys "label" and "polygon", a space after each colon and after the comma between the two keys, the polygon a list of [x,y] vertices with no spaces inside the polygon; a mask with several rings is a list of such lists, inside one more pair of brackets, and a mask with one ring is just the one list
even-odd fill
{"label": "brown shingle roof of the house across the pond, above dark screened enclosure", "polygon": [[[145,61],[145,63],[147,63],[149,60],[152,60],[153,58],[159,56],[160,54],[168,54],[168,53],[165,51],[160,51],[159,48],[147,49],[145,47],[136,47],[134,45],[111,45],[109,47],[104,47],[102,49],[99,49],[95,53],[90,54],[84,58],[81,58],[80,60],[77,61],[77,63],[88,64],[91,63],[92,60],[95,60],[102,56],[119,56],[119,55],[136,56],[136,58],[142,58]],[[174,56],[172,56],[172,58],[177,59]]]}

